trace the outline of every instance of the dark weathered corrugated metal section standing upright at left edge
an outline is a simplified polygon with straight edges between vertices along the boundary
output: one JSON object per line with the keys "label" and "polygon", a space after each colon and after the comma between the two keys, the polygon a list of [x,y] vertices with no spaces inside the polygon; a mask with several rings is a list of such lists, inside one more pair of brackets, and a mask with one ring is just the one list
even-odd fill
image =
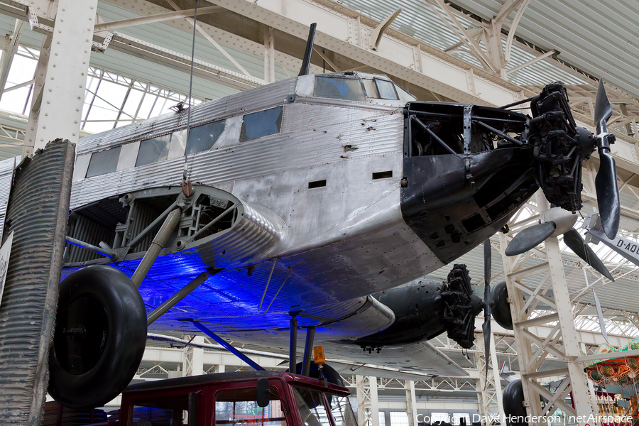
{"label": "dark weathered corrugated metal section standing upright at left edge", "polygon": [[52,142],[16,170],[5,228],[14,231],[0,305],[0,424],[43,415],[75,147]]}

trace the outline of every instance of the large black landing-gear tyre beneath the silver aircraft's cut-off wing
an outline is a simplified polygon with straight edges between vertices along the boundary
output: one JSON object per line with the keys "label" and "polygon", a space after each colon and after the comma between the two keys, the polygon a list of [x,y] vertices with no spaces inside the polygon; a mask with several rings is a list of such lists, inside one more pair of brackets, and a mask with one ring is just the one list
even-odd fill
{"label": "large black landing-gear tyre beneath the silver aircraft's cut-off wing", "polygon": [[[67,329],[84,328],[84,337]],[[131,382],[146,346],[146,307],[129,277],[87,266],[60,283],[49,388],[70,408],[101,407]]]}

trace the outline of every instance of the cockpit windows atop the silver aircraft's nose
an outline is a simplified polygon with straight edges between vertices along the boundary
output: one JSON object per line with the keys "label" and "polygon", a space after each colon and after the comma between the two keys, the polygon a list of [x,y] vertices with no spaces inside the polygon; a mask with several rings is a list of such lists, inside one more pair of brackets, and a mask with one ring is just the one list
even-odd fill
{"label": "cockpit windows atop the silver aircraft's nose", "polygon": [[324,77],[318,75],[315,77],[313,96],[359,102],[364,102],[366,98],[399,99],[404,102],[415,102],[417,100],[412,94],[387,78],[380,78],[364,72],[360,72],[357,75],[362,78]]}

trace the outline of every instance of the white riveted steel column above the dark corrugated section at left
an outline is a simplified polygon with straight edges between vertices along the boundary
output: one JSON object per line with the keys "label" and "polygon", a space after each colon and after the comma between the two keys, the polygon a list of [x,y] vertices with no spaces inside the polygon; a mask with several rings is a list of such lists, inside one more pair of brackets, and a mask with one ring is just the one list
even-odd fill
{"label": "white riveted steel column above the dark corrugated section at left", "polygon": [[[23,157],[55,138],[72,143],[80,138],[96,8],[97,0],[58,0],[49,55],[38,62]],[[44,60],[45,72],[40,67]]]}

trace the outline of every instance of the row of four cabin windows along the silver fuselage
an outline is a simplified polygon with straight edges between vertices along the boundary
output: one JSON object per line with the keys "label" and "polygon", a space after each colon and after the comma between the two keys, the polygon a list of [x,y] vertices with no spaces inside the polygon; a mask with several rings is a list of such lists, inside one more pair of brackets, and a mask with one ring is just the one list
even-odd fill
{"label": "row of four cabin windows along the silver fuselage", "polygon": [[[226,120],[214,121],[202,126],[192,127],[185,147],[185,155],[209,151],[226,126]],[[246,114],[242,120],[240,142],[252,141],[263,136],[280,133],[282,126],[282,107]],[[168,133],[156,138],[140,142],[136,167],[158,163],[168,158],[171,139],[175,133]],[[180,143],[180,141],[174,141]],[[120,158],[121,146],[91,154],[86,178],[104,175],[116,171]]]}

